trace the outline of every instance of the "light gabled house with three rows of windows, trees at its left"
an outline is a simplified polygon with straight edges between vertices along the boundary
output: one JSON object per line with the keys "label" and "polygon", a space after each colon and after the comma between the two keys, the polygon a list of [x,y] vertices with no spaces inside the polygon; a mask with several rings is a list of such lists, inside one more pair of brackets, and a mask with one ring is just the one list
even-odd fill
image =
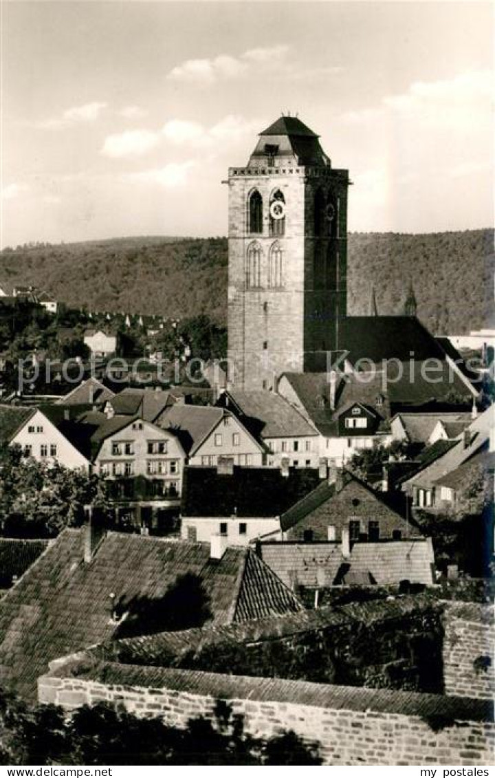
{"label": "light gabled house with three rows of windows, trees at its left", "polygon": [[103,416],[91,438],[96,472],[106,477],[117,513],[154,526],[178,508],[186,455],[180,440],[139,416]]}

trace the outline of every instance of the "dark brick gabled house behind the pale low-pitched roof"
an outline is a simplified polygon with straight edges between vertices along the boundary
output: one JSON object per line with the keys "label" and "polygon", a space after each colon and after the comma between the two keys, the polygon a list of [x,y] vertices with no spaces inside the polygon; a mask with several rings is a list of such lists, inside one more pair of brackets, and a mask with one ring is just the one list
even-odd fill
{"label": "dark brick gabled house behind the pale low-pitched roof", "polygon": [[349,471],[330,471],[316,488],[281,514],[282,538],[288,541],[350,542],[401,540],[420,534],[407,515],[405,499],[376,492]]}

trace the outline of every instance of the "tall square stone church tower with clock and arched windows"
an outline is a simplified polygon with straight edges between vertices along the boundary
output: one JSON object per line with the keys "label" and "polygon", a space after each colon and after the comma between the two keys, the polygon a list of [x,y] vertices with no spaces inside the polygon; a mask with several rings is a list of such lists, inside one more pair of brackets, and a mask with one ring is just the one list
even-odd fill
{"label": "tall square stone church tower with clock and arched windows", "polygon": [[346,315],[347,170],[282,116],[228,171],[228,364],[239,389],[326,370]]}

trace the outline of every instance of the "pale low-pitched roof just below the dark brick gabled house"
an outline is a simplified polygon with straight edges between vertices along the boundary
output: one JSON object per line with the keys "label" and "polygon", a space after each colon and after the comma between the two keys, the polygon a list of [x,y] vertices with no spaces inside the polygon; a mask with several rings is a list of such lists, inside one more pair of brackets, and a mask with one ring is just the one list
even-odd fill
{"label": "pale low-pitched roof just below the dark brick gabled house", "polygon": [[263,562],[288,586],[383,586],[401,580],[434,583],[429,538],[354,543],[347,558],[335,542],[262,542],[260,552]]}

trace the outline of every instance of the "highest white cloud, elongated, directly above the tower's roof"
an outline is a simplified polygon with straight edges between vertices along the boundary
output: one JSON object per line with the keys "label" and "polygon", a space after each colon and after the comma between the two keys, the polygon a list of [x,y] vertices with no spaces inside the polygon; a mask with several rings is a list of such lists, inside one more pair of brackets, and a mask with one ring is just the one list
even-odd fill
{"label": "highest white cloud, elongated, directly above the tower's roof", "polygon": [[275,75],[294,75],[304,78],[308,73],[314,77],[340,72],[342,68],[312,68],[308,71],[301,63],[295,61],[291,48],[284,44],[277,46],[253,48],[233,57],[221,54],[209,59],[187,59],[176,65],[169,74],[171,81],[213,84],[218,81],[245,78],[249,75],[261,75],[269,72]]}

